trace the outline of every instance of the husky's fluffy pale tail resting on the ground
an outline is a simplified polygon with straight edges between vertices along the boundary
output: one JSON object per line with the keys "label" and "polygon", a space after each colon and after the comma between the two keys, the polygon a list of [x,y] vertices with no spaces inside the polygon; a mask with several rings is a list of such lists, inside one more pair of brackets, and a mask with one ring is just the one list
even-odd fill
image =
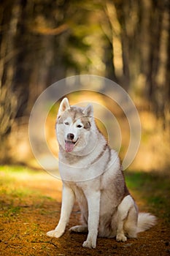
{"label": "husky's fluffy pale tail resting on the ground", "polygon": [[137,233],[148,230],[156,224],[156,217],[152,214],[139,213],[137,223]]}

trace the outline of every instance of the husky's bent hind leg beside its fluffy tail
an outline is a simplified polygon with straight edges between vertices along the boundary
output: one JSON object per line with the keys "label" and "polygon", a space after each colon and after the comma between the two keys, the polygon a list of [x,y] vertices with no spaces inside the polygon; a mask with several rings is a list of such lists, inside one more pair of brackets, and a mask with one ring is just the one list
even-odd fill
{"label": "husky's bent hind leg beside its fluffy tail", "polygon": [[125,236],[126,234],[128,236],[131,234],[130,236],[134,237],[136,222],[137,213],[135,214],[134,200],[131,195],[127,195],[123,198],[122,202],[117,208],[116,240],[123,242],[127,241],[127,237]]}

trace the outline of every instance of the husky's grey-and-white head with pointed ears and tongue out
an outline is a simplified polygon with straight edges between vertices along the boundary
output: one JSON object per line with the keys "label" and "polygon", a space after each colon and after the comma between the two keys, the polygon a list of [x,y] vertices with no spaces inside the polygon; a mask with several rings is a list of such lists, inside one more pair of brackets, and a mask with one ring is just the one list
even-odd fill
{"label": "husky's grey-and-white head with pointed ears and tongue out", "polygon": [[93,106],[91,104],[85,108],[80,108],[70,106],[67,98],[62,100],[58,110],[56,133],[58,143],[64,151],[77,154],[83,153],[83,151],[85,153],[87,148],[90,150],[89,146],[92,143],[94,146],[96,140],[95,136],[93,136],[93,139],[91,138],[95,127]]}

